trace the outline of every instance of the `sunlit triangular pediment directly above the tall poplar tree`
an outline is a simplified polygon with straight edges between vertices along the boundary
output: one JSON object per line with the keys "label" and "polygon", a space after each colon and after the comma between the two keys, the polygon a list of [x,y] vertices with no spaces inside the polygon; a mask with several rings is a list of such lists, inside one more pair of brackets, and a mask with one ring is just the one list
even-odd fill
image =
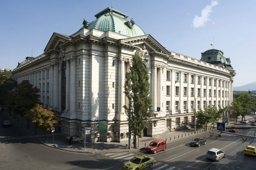
{"label": "sunlit triangular pediment directly above the tall poplar tree", "polygon": [[122,39],[121,43],[126,43],[129,45],[140,46],[145,45],[147,49],[151,52],[158,52],[165,55],[170,55],[170,53],[164,48],[157,40],[155,40],[150,34],[139,36],[139,37],[132,37]]}

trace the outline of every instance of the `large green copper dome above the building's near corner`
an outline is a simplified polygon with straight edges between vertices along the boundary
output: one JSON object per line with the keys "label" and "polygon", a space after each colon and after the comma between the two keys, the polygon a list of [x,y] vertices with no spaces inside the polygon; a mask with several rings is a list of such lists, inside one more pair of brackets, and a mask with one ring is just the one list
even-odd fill
{"label": "large green copper dome above the building's near corner", "polygon": [[81,29],[86,28],[90,30],[94,28],[104,32],[113,31],[128,37],[145,35],[145,32],[134,23],[134,20],[127,20],[129,16],[116,9],[108,7],[96,14],[95,17],[96,20],[93,22],[88,22],[84,19],[84,26]]}

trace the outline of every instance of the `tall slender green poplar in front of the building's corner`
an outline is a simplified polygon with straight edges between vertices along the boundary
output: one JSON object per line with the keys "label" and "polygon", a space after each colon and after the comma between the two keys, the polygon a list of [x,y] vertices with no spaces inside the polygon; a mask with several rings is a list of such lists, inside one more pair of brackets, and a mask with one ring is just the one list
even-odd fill
{"label": "tall slender green poplar in front of the building's corner", "polygon": [[[130,72],[125,74],[125,95],[131,101],[131,134],[134,135],[134,148],[137,147],[137,136],[142,130],[148,127],[151,119],[152,99],[149,97],[149,76],[140,55],[132,56],[132,66]],[[138,94],[137,94],[138,93]],[[137,95],[134,95],[137,94]],[[128,116],[129,108],[125,108]]]}

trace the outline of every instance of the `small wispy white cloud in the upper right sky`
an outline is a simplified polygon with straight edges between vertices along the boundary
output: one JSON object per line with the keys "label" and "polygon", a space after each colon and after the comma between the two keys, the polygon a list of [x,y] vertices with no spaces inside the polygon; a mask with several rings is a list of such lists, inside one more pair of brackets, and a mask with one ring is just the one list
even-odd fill
{"label": "small wispy white cloud in the upper right sky", "polygon": [[201,11],[201,17],[198,17],[197,15],[195,16],[194,20],[193,20],[193,26],[195,28],[199,28],[202,26],[205,26],[205,23],[207,21],[210,21],[211,19],[209,18],[209,16],[212,13],[212,7],[217,6],[218,5],[218,1],[217,0],[212,0],[211,5],[206,6],[205,8],[202,9]]}

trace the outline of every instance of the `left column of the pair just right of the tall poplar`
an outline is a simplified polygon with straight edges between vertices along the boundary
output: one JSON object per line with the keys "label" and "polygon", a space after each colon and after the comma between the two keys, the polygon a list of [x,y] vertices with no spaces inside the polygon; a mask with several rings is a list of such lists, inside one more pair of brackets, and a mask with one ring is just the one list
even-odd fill
{"label": "left column of the pair just right of the tall poplar", "polygon": [[151,64],[152,81],[151,81],[151,98],[153,108],[152,111],[157,111],[157,64]]}

